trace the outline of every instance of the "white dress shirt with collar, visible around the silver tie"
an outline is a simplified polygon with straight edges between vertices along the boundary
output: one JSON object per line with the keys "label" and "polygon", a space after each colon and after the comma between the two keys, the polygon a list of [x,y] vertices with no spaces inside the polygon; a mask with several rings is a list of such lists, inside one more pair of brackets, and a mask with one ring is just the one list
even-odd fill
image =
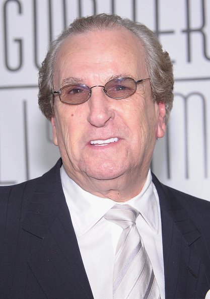
{"label": "white dress shirt with collar, visible around the silver tie", "polygon": [[[83,190],[67,176],[63,166],[60,175],[93,296],[95,299],[111,299],[115,249],[122,228],[106,220],[103,215],[116,202]],[[164,299],[161,214],[159,197],[150,171],[141,193],[121,204],[129,204],[140,212],[136,227],[152,263],[161,299]]]}

